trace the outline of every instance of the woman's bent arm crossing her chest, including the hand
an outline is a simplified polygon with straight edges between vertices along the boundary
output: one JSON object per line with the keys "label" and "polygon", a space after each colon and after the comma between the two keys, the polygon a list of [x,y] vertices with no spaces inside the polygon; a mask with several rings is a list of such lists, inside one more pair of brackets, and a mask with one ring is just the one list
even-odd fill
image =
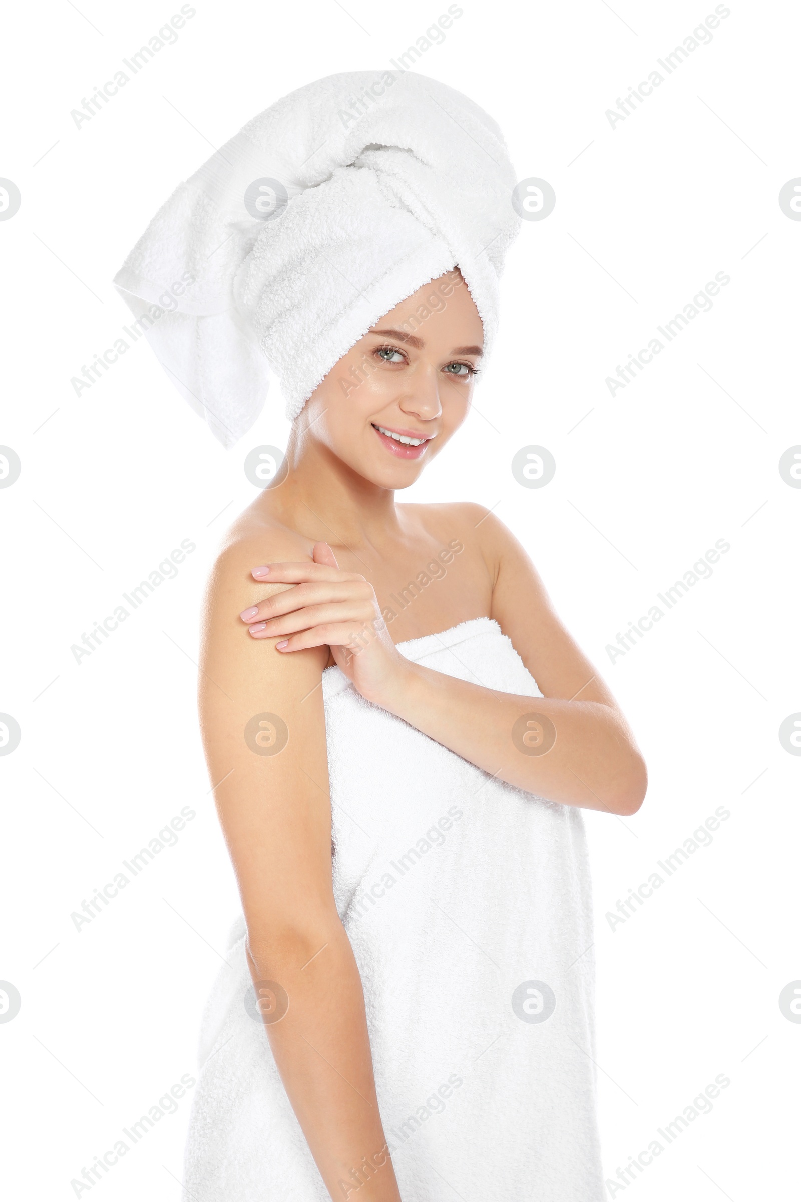
{"label": "woman's bent arm crossing her chest, including the hand", "polygon": [[[385,629],[372,587],[341,572],[327,543],[316,545],[313,564],[270,565],[270,582],[297,588],[241,617],[253,637],[285,636],[276,644],[285,653],[328,643],[369,701],[491,775],[566,805],[635,814],[647,775],[623,714],[560,621],[520,543],[491,514],[482,525],[494,577],[490,617],[512,639],[542,697],[498,692],[407,660]],[[267,570],[253,575],[268,582]]]}

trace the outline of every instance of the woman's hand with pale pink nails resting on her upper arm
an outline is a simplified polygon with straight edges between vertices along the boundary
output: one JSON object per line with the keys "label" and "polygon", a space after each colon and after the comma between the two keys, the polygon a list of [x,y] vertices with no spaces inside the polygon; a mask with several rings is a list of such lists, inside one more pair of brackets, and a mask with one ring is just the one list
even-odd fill
{"label": "woman's hand with pale pink nails resting on her upper arm", "polygon": [[400,685],[408,661],[389,636],[373,588],[364,576],[341,571],[327,542],[315,543],[312,559],[255,567],[256,581],[294,587],[239,617],[252,638],[277,638],[281,653],[330,647],[361,696],[382,704]]}

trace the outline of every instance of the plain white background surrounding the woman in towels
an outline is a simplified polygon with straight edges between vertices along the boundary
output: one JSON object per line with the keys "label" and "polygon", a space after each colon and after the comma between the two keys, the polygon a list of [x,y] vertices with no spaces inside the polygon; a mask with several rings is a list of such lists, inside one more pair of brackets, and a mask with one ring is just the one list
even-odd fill
{"label": "plain white background surrounding the woman in towels", "polygon": [[[0,978],[22,995],[0,1024],[0,1105],[8,1196],[53,1202],[197,1075],[201,1011],[238,911],[196,728],[198,606],[255,495],[245,456],[288,430],[274,392],[222,451],[144,339],[80,397],[70,380],[128,322],[112,276],[213,147],[311,79],[389,66],[447,10],[201,0],[177,43],[77,129],[71,109],[180,6],[78,7],[17,6],[0,72],[0,175],[22,192],[0,222],[0,442],[22,460],[0,490],[0,710],[22,727],[0,758]],[[648,763],[636,816],[586,814],[605,1176],[717,1075],[730,1085],[610,1196],[746,1202],[787,1196],[799,1123],[801,1024],[778,995],[801,977],[801,757],[778,728],[801,710],[801,489],[778,460],[801,444],[801,221],[778,192],[801,175],[800,14],[733,0],[711,43],[612,129],[605,111],[715,11],[614,7],[465,2],[417,65],[496,118],[519,178],[546,179],[556,208],[524,222],[477,411],[410,499],[495,507]],[[711,311],[611,397],[605,377],[718,272],[730,284]],[[530,444],[556,459],[542,489],[510,472]],[[185,538],[196,551],[177,578],[77,664],[71,645]],[[610,662],[606,644],[717,540],[730,551],[711,578]],[[177,845],[76,930],[71,912],[186,805],[196,817]],[[730,817],[712,844],[611,929],[606,912],[718,807]],[[92,1198],[179,1198],[189,1105]]]}

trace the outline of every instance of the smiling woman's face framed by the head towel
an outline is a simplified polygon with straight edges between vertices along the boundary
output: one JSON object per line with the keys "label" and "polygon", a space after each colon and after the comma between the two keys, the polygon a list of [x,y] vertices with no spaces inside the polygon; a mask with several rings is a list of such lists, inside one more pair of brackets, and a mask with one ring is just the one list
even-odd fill
{"label": "smiling woman's face framed by the head towel", "polygon": [[379,488],[408,488],[465,421],[483,343],[460,272],[432,280],[334,364],[298,418],[304,440]]}

